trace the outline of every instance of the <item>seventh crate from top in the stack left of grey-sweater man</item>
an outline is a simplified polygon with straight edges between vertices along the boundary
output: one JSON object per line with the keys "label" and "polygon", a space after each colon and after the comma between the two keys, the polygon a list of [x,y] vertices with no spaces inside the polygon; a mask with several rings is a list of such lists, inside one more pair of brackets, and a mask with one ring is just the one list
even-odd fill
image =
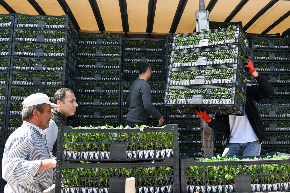
{"label": "seventh crate from top in the stack left of grey-sweater man", "polygon": [[120,116],[119,106],[80,106],[77,107],[77,118],[101,118],[118,119]]}

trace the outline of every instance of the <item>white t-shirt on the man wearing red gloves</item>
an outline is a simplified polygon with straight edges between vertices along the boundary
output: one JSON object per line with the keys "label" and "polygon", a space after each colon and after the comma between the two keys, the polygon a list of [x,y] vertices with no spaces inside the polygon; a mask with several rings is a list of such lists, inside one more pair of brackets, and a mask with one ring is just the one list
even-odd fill
{"label": "white t-shirt on the man wearing red gloves", "polygon": [[244,116],[229,115],[229,122],[229,143],[248,143],[259,140],[246,114]]}

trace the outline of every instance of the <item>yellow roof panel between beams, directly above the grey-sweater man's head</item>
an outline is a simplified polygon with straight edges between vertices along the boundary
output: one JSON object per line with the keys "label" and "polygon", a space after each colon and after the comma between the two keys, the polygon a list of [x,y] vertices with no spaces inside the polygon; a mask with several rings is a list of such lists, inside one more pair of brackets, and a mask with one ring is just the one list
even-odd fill
{"label": "yellow roof panel between beams, directly above the grey-sweater man's head", "polygon": [[130,32],[146,32],[148,0],[127,0],[128,23]]}

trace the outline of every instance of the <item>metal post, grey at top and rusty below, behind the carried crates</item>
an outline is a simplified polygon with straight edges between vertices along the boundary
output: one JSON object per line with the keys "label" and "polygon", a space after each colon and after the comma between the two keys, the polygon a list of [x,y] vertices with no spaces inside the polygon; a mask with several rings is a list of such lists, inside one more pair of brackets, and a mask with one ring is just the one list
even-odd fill
{"label": "metal post, grey at top and rusty below, behind the carried crates", "polygon": [[[199,10],[195,11],[196,32],[209,30],[209,11],[205,10],[204,0],[199,0]],[[213,115],[210,115],[213,118]],[[204,157],[214,156],[214,130],[202,119],[200,124],[201,141]]]}

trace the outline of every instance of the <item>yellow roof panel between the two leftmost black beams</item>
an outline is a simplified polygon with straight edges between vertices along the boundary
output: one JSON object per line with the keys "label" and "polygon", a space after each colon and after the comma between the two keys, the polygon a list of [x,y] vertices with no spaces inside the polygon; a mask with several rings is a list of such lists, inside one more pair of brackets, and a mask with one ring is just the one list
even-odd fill
{"label": "yellow roof panel between the two leftmost black beams", "polygon": [[5,2],[14,10],[16,13],[39,15],[37,11],[32,7],[28,1],[23,0],[5,0]]}

